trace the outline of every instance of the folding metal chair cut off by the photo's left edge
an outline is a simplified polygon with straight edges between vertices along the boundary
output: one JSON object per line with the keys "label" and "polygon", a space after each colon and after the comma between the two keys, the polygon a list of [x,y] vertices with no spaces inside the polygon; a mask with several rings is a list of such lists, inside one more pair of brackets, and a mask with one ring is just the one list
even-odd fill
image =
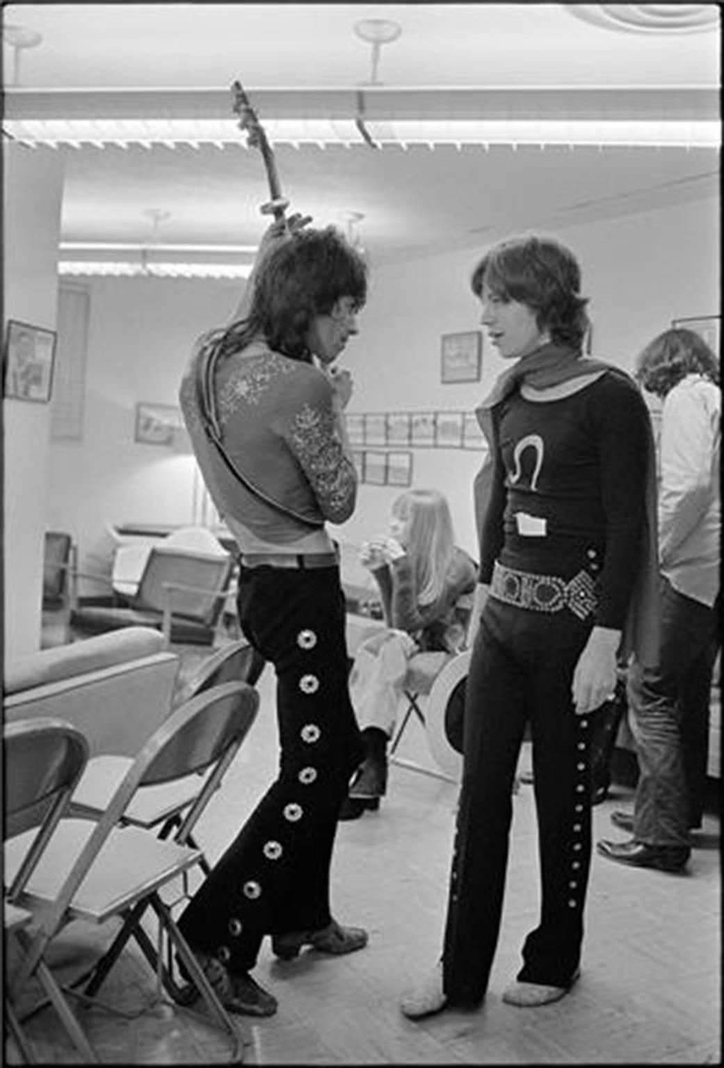
{"label": "folding metal chair cut off by the photo's left edge", "polygon": [[[7,890],[3,895],[3,926],[7,940],[15,940],[22,961],[32,944],[26,927],[33,914],[17,901],[67,810],[70,795],[85,767],[88,742],[80,731],[68,723],[41,717],[9,724],[3,732],[3,743],[5,849],[17,837],[26,843],[22,863],[16,870],[12,873],[5,866]],[[40,958],[34,971],[70,1041],[85,1061],[93,1061],[93,1050],[45,960]],[[23,1058],[32,1062],[29,1039],[15,1011],[13,988],[19,993],[21,983],[11,979],[5,986],[5,1022]]]}

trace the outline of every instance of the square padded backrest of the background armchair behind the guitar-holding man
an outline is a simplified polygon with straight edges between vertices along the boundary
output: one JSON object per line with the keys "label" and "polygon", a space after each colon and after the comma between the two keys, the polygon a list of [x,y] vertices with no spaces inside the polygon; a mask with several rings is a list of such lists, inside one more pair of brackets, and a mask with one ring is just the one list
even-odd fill
{"label": "square padded backrest of the background armchair behind the guitar-holding man", "polygon": [[209,555],[189,549],[154,546],[139,582],[133,607],[162,612],[167,603],[167,584],[187,586],[172,591],[173,615],[207,627],[216,626],[223,608],[223,596],[234,569],[234,560],[225,553]]}

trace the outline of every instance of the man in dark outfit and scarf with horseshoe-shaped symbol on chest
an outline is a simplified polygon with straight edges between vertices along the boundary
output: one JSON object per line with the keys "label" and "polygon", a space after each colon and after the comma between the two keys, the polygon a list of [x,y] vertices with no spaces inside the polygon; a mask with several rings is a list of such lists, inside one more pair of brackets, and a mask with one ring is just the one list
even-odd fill
{"label": "man in dark outfit and scarf with horseshoe-shaped symbol on chest", "polygon": [[[479,626],[468,676],[463,778],[442,958],[403,999],[412,1018],[476,1007],[503,909],[511,787],[533,740],[541,909],[506,1002],[542,1005],[578,978],[591,862],[593,716],[656,590],[654,441],[624,372],[582,356],[580,269],[558,242],[488,252],[472,277],[492,344],[514,366],[478,409]],[[483,503],[485,494],[487,501]]]}

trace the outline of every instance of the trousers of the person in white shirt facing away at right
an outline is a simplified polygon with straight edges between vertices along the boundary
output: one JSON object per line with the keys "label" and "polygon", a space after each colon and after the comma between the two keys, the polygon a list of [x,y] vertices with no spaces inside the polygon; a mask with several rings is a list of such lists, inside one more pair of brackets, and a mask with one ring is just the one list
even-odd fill
{"label": "trousers of the person in white shirt facing away at right", "polygon": [[639,760],[633,837],[652,846],[688,846],[697,815],[692,808],[703,807],[706,786],[718,613],[678,593],[663,577],[660,595],[659,663],[642,668],[634,662],[628,672],[629,723]]}

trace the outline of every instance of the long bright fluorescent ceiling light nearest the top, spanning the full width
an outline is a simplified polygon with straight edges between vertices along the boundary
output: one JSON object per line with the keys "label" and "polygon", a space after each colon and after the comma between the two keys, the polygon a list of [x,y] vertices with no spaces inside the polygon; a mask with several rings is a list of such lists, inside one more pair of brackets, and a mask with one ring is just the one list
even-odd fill
{"label": "long bright fluorescent ceiling light nearest the top, spanning the full width", "polygon": [[[450,119],[376,120],[365,117],[374,141],[390,145],[581,145],[715,148],[721,145],[719,120],[695,119]],[[350,147],[363,142],[353,121],[326,119],[265,120],[272,144]],[[131,144],[152,147],[176,145],[219,150],[246,141],[234,125],[206,119],[5,119],[3,128],[15,141],[36,145]]]}

